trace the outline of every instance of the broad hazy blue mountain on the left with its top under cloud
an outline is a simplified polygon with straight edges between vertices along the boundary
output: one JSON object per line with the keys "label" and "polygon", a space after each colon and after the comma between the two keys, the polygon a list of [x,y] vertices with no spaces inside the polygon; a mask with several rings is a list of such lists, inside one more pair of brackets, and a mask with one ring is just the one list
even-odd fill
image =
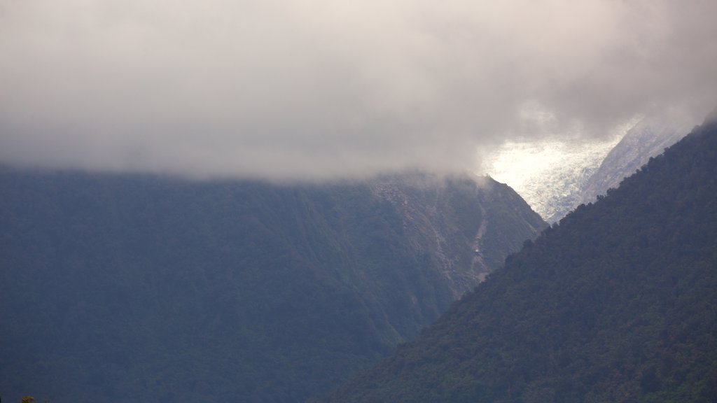
{"label": "broad hazy blue mountain on the left with its top under cloud", "polygon": [[1,169],[0,392],[300,401],[415,336],[544,225],[468,176]]}

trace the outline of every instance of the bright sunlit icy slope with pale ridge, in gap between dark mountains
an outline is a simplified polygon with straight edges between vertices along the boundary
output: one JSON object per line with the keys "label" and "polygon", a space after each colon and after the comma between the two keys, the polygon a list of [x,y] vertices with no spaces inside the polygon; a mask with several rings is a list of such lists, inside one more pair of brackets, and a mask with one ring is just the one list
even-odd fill
{"label": "bright sunlit icy slope with pale ridge, in gap between dark mountains", "polygon": [[511,185],[541,217],[553,223],[617,187],[689,128],[689,120],[674,112],[638,120],[619,141],[507,143],[487,158],[484,169]]}

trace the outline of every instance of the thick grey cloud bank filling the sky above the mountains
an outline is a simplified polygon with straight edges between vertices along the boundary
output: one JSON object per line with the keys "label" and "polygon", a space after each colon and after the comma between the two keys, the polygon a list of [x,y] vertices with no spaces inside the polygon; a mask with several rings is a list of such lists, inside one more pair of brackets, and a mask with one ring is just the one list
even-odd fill
{"label": "thick grey cloud bank filling the sky above the mountains", "polygon": [[0,164],[474,171],[717,106],[717,1],[0,0]]}

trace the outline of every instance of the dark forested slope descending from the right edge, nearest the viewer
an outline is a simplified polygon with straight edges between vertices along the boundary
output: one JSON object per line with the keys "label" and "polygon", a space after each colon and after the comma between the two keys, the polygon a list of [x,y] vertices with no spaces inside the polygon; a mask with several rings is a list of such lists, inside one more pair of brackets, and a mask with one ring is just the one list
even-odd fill
{"label": "dark forested slope descending from the right edge, nearest the viewer", "polygon": [[715,120],[314,401],[714,402]]}

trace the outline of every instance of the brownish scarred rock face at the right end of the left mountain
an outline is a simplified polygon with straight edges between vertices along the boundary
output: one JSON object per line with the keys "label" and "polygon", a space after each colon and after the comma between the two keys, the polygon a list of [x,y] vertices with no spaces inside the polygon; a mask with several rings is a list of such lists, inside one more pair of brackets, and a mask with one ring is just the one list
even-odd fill
{"label": "brownish scarred rock face at the right end of the left mountain", "polygon": [[455,298],[546,227],[513,189],[487,176],[414,173],[383,176],[369,187],[397,209],[409,245],[440,270]]}

